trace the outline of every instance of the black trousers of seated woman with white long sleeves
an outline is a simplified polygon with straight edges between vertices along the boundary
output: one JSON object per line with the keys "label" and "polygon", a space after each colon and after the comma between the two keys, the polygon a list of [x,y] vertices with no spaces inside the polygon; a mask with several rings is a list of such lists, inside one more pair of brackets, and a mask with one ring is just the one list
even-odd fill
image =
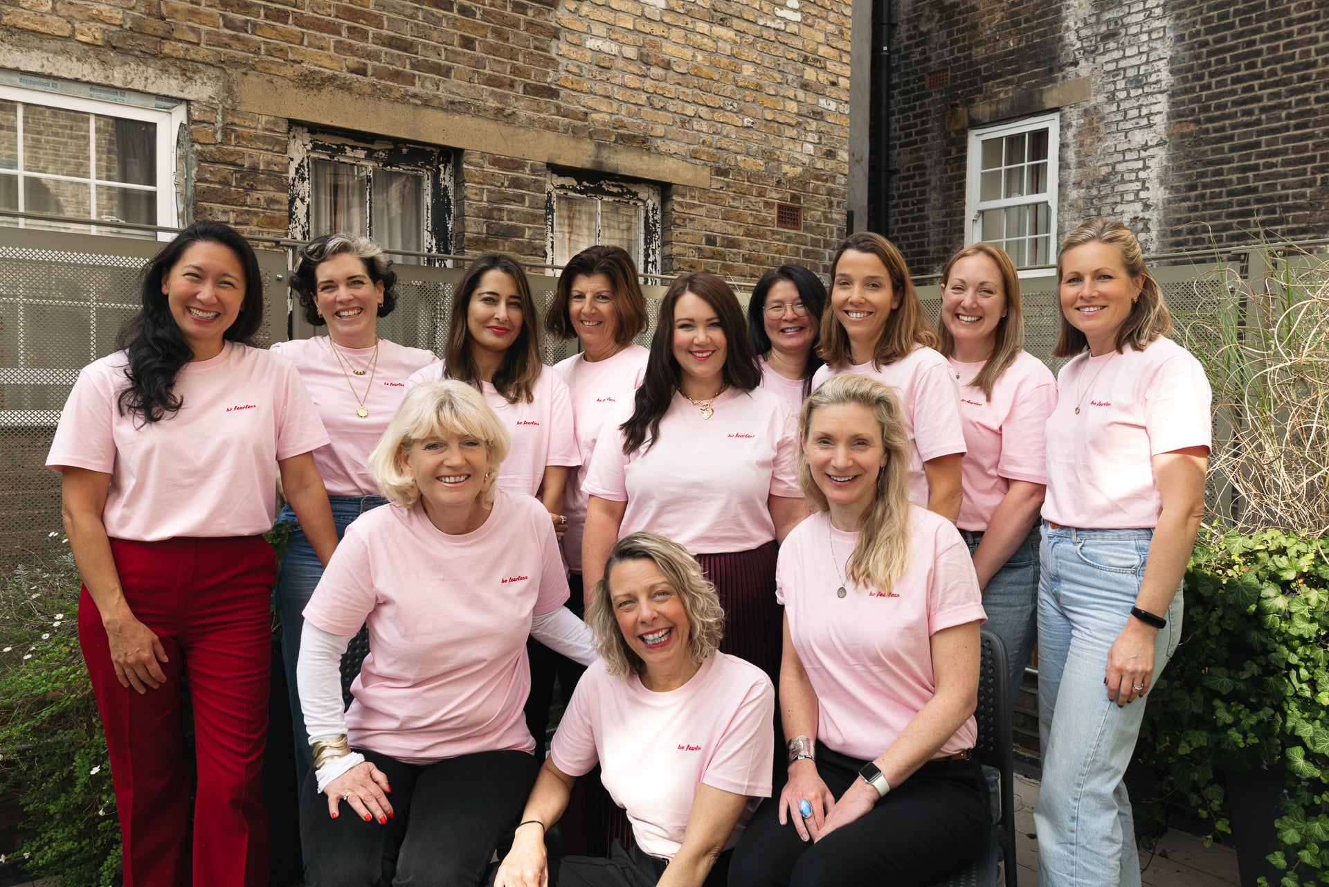
{"label": "black trousers of seated woman with white long sleeves", "polygon": [[314,773],[300,795],[308,887],[480,884],[504,832],[517,824],[538,765],[525,751],[481,751],[431,765],[356,749],[388,777],[393,818],[364,822],[344,801],[336,819]]}

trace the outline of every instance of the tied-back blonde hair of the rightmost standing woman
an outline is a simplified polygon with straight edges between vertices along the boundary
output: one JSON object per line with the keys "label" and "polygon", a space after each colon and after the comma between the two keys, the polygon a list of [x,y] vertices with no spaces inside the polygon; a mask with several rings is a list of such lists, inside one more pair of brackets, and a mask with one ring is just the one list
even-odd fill
{"label": "tied-back blonde hair of the rightmost standing woman", "polygon": [[[1172,315],[1168,314],[1167,306],[1163,303],[1163,290],[1159,289],[1159,282],[1154,279],[1150,270],[1144,267],[1144,253],[1140,250],[1140,242],[1122,222],[1091,218],[1067,234],[1066,239],[1062,241],[1062,247],[1057,251],[1058,286],[1062,281],[1062,259],[1069,251],[1086,243],[1107,243],[1115,247],[1131,279],[1144,278],[1139,297],[1131,303],[1131,313],[1126,315],[1126,320],[1116,331],[1116,351],[1122,351],[1127,344],[1136,351],[1143,351],[1154,339],[1171,334]],[[1053,348],[1053,356],[1074,358],[1086,348],[1088,348],[1088,339],[1071,326],[1071,322],[1066,319],[1066,311],[1062,311],[1062,334],[1057,339],[1057,347]]]}

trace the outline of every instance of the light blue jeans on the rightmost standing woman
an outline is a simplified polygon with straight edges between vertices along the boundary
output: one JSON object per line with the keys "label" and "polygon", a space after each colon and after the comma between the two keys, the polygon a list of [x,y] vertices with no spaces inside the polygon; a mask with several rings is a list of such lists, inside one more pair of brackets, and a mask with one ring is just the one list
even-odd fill
{"label": "light blue jeans on the rightmost standing woman", "polygon": [[[1107,698],[1107,652],[1131,618],[1152,529],[1043,525],[1038,586],[1038,733],[1043,778],[1034,805],[1038,883],[1138,887],[1126,767],[1148,697]],[[1154,678],[1181,638],[1181,590],[1154,645]],[[1152,685],[1151,681],[1151,685]]]}

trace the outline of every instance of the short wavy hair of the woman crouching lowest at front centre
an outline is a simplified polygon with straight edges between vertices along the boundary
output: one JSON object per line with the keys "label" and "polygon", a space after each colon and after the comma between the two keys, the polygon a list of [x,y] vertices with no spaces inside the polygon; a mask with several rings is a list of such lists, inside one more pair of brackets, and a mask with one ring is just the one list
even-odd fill
{"label": "short wavy hair of the woman crouching lowest at front centre", "polygon": [[655,564],[664,581],[670,584],[683,604],[687,614],[688,653],[694,662],[704,662],[720,646],[724,636],[724,609],[715,593],[715,585],[702,574],[702,567],[686,548],[658,533],[638,531],[614,543],[605,561],[605,573],[595,582],[590,604],[586,608],[586,624],[595,636],[599,658],[605,660],[605,670],[613,676],[629,672],[641,674],[646,670],[642,657],[637,656],[623,638],[623,632],[614,618],[613,590],[609,577],[614,568],[625,561],[649,560]]}

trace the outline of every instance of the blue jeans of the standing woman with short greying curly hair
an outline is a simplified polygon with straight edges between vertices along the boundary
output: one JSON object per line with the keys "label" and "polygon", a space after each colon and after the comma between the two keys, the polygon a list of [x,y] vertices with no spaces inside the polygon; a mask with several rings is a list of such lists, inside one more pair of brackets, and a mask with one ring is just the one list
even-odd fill
{"label": "blue jeans of the standing woman with short greying curly hair", "polygon": [[[332,521],[336,524],[336,537],[346,535],[346,528],[356,517],[379,505],[387,504],[383,496],[328,496],[332,505]],[[323,564],[304,537],[290,505],[282,508],[278,523],[296,524],[286,540],[286,555],[276,572],[276,588],[272,589],[272,602],[282,620],[282,660],[286,665],[286,686],[291,699],[291,730],[295,733],[295,778],[296,789],[304,785],[304,774],[314,767],[314,753],[310,749],[310,734],[304,729],[304,713],[300,710],[300,694],[295,688],[295,664],[300,658],[300,632],[304,628],[304,605],[314,596],[319,580],[323,578]]]}

